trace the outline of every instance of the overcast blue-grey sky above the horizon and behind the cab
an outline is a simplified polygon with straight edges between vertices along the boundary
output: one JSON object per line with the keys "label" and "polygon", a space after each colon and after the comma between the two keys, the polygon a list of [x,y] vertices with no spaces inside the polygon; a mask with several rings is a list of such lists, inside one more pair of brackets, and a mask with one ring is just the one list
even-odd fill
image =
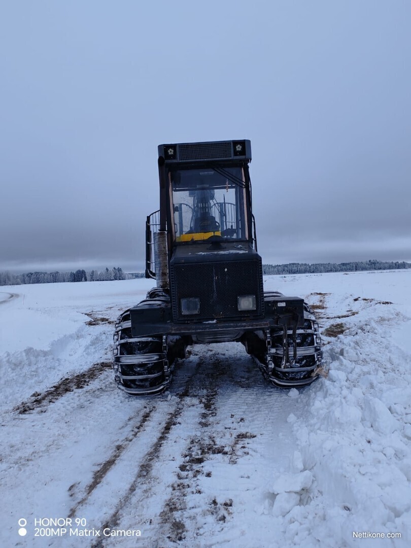
{"label": "overcast blue-grey sky above the horizon and behind the cab", "polygon": [[411,261],[411,2],[0,2],[0,270],[144,269],[157,145],[250,139],[264,263]]}

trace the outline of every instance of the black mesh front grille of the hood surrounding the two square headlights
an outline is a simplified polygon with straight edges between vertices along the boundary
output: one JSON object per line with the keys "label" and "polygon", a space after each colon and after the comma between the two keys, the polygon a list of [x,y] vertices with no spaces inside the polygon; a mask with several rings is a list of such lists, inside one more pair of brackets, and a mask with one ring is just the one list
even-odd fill
{"label": "black mesh front grille of the hood surrounding the two square headlights", "polygon": [[[258,260],[177,264],[170,271],[174,321],[204,321],[261,315]],[[255,295],[256,310],[238,310],[239,295]],[[181,298],[200,299],[200,312],[193,316],[181,313]]]}

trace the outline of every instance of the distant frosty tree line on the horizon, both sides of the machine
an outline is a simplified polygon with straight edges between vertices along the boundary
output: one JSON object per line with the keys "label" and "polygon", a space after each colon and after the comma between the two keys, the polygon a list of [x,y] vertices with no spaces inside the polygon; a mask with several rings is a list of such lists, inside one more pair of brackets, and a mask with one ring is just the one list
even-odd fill
{"label": "distant frosty tree line on the horizon, both sides of the machine", "polygon": [[[262,265],[265,275],[276,274],[319,274],[324,272],[359,272],[369,270],[399,270],[409,269],[409,262],[386,262],[376,259],[358,262],[290,262],[286,265]],[[26,283],[61,283],[61,282],[105,282],[117,279],[144,278],[144,272],[123,272],[121,267],[86,272],[78,269],[75,272],[26,272],[11,274],[0,272],[0,286],[19,286]]]}

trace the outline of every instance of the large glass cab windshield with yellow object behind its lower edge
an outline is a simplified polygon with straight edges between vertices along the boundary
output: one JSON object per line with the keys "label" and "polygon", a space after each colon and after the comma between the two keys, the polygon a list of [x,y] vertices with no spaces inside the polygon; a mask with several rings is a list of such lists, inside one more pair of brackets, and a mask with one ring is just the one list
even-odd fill
{"label": "large glass cab windshield with yellow object behind its lower edge", "polygon": [[171,172],[170,180],[175,242],[248,239],[241,167],[181,169]]}

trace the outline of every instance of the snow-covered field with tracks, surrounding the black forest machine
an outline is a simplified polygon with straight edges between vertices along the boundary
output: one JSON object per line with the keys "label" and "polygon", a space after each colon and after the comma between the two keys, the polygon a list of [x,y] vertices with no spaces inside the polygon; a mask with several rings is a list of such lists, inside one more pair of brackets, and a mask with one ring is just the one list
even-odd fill
{"label": "snow-covered field with tracks, surrounding the black forest machine", "polygon": [[267,276],[314,305],[328,375],[275,389],[241,345],[195,346],[148,399],[111,340],[151,281],[1,287],[1,546],[410,546],[410,282]]}

